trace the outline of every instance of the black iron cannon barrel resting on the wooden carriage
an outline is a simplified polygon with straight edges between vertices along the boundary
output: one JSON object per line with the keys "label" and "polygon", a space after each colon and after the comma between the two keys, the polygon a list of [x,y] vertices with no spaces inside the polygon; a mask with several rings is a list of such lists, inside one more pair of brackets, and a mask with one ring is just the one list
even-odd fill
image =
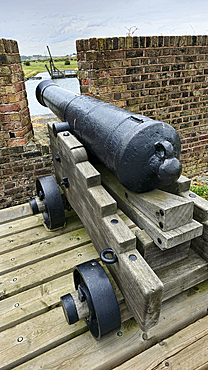
{"label": "black iron cannon barrel resting on the wooden carriage", "polygon": [[36,89],[50,108],[127,189],[134,192],[169,185],[181,175],[181,144],[168,123],[134,114],[43,80]]}

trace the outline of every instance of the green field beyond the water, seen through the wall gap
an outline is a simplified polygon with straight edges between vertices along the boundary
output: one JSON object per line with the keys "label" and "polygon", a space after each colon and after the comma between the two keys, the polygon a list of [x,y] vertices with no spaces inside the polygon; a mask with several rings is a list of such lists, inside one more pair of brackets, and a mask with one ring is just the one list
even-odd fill
{"label": "green field beyond the water, seen through the wall gap", "polygon": [[[77,70],[77,61],[76,60],[70,60],[70,65],[65,65],[65,59],[55,59],[54,58],[54,65],[56,68],[60,70],[69,70],[69,69],[75,69]],[[38,61],[30,61],[30,65],[26,66],[24,62],[22,63],[22,69],[25,76],[25,79],[31,76],[35,76],[39,72],[46,72],[45,64],[47,64],[48,68],[50,69],[50,64],[48,60],[38,60]]]}

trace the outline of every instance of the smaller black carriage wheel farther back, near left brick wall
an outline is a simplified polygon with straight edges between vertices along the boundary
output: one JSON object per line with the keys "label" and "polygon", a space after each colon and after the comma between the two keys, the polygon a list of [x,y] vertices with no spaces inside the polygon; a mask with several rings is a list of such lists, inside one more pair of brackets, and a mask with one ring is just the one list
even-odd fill
{"label": "smaller black carriage wheel farther back, near left brick wall", "polygon": [[49,230],[65,224],[65,212],[61,194],[53,176],[43,176],[36,180],[37,195],[44,201],[43,217]]}

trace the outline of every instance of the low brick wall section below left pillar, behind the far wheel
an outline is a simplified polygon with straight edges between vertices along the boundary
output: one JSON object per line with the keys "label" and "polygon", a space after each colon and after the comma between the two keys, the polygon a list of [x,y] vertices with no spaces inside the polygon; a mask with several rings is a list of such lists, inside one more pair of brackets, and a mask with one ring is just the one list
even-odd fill
{"label": "low brick wall section below left pillar, behind the far wheel", "polygon": [[0,209],[28,202],[36,179],[54,173],[49,145],[27,145],[0,150]]}

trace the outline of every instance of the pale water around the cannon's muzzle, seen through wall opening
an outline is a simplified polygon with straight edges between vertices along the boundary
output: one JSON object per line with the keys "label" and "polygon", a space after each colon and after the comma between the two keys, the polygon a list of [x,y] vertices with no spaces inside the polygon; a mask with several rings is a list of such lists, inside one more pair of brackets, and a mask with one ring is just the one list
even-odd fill
{"label": "pale water around the cannon's muzzle, seen through wall opening", "polygon": [[[37,77],[41,77],[43,80],[50,79],[48,72],[41,72],[37,74]],[[63,89],[73,91],[76,94],[80,94],[79,80],[77,78],[58,78],[53,80],[57,85],[63,87]],[[41,80],[27,80],[25,82],[28,105],[30,109],[30,115],[43,115],[52,113],[49,108],[43,107],[38,103],[35,90],[36,86],[41,82]]]}

